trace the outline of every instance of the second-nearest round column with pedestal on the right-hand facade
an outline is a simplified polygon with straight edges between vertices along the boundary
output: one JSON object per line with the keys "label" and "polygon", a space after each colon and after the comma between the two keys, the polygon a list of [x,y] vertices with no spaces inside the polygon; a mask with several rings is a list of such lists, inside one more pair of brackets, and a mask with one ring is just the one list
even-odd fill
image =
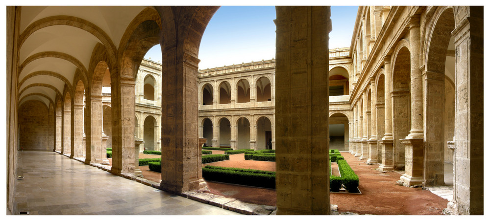
{"label": "second-nearest round column with pedestal on the right-hand facade", "polygon": [[391,55],[385,56],[385,135],[381,143],[381,172],[393,171],[393,110],[392,110],[392,70]]}

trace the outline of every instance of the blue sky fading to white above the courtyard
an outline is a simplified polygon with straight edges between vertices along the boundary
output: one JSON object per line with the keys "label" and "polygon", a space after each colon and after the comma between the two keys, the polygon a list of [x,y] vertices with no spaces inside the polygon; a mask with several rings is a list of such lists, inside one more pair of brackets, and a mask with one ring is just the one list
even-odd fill
{"label": "blue sky fading to white above the courtyard", "polygon": [[[329,47],[350,46],[358,6],[332,6]],[[222,6],[208,23],[199,48],[200,69],[275,57],[274,6]],[[160,46],[145,58],[161,62]]]}

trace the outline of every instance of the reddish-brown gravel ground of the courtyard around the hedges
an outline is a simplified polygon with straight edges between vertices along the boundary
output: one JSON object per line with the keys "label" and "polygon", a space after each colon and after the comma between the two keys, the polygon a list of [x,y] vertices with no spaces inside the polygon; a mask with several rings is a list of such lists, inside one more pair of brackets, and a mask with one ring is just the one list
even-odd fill
{"label": "reddish-brown gravel ground of the courtyard around the hedges", "polygon": [[[223,154],[224,151],[213,151]],[[358,160],[349,153],[342,153],[350,167],[359,176],[359,189],[362,194],[330,193],[330,203],[337,204],[339,212],[353,212],[374,215],[441,215],[447,200],[422,188],[396,185],[400,172],[380,173],[378,165],[366,165],[366,160]],[[140,158],[158,158],[159,155],[140,154]],[[203,164],[275,171],[275,162],[245,160],[244,154],[230,155],[230,160]],[[337,167],[332,166],[333,174]],[[161,174],[151,172],[147,166],[140,166],[143,176],[160,182]],[[274,189],[240,186],[208,181],[209,193],[236,198],[244,202],[275,206]]]}

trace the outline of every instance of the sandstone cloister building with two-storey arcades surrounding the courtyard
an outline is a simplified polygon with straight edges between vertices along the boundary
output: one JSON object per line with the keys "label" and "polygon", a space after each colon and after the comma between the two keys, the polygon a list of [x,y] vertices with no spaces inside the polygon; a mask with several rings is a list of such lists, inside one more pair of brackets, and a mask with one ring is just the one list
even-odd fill
{"label": "sandstone cloister building with two-storey arcades surrounding the courtyard", "polygon": [[[406,185],[443,185],[451,162],[448,208],[483,214],[482,6],[361,6],[351,46],[338,50],[328,49],[329,6],[277,6],[272,67],[201,72],[200,40],[217,6],[6,9],[7,214],[21,150],[104,164],[109,141],[110,173],[132,175],[135,141],[151,127],[159,189],[172,193],[205,186],[199,137],[262,149],[263,130],[276,150],[277,214],[329,214],[331,128],[335,144],[380,171],[403,170]],[[142,60],[156,44],[161,73],[138,74],[151,69]],[[264,67],[220,79],[245,65]],[[253,109],[236,114],[242,107]]]}

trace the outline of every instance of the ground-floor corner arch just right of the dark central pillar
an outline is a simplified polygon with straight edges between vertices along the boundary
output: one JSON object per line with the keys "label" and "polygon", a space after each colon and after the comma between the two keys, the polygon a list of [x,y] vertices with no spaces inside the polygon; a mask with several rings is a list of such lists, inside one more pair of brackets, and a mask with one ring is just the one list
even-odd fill
{"label": "ground-floor corner arch just right of the dark central pillar", "polygon": [[349,151],[349,115],[344,111],[332,111],[329,116],[330,149]]}

